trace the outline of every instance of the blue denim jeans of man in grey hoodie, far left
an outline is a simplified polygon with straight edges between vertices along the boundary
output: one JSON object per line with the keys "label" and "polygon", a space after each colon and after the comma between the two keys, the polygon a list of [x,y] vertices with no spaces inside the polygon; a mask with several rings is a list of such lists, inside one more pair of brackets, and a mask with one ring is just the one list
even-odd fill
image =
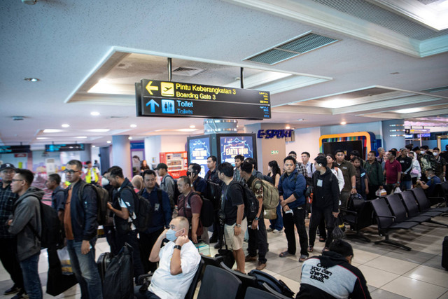
{"label": "blue denim jeans of man in grey hoodie, far left", "polygon": [[40,252],[25,258],[20,262],[20,267],[22,268],[23,274],[23,284],[25,286],[25,291],[31,299],[41,299],[42,298],[42,286],[41,279],[39,279],[38,273],[38,262]]}

